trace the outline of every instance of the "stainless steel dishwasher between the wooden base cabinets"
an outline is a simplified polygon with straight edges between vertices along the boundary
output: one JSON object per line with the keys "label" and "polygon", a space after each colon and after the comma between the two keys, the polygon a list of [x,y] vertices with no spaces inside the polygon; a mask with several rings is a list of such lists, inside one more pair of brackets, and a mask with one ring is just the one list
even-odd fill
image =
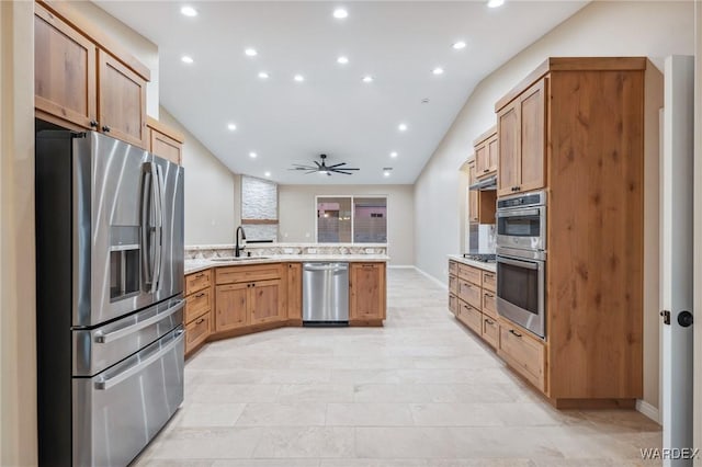
{"label": "stainless steel dishwasher between the wooden base cabinets", "polygon": [[349,324],[349,263],[303,263],[303,324]]}

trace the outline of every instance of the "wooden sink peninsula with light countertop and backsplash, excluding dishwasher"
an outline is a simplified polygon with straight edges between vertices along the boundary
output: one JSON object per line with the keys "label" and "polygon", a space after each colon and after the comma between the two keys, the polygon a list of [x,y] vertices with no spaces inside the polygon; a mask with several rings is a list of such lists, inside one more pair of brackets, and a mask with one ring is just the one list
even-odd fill
{"label": "wooden sink peninsula with light countertop and backsplash, excluding dishwasher", "polygon": [[[349,326],[383,326],[386,244],[260,243],[185,248],[185,354],[207,341],[302,326],[303,263],[349,263]],[[250,254],[250,255],[249,255]]]}

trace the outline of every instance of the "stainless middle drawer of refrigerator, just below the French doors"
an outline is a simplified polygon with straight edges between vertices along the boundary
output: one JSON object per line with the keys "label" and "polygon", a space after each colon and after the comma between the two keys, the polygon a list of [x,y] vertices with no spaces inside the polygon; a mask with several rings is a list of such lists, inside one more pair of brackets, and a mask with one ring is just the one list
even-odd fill
{"label": "stainless middle drawer of refrigerator, just below the French doors", "polygon": [[93,376],[183,322],[180,296],[91,330],[75,330],[73,376]]}

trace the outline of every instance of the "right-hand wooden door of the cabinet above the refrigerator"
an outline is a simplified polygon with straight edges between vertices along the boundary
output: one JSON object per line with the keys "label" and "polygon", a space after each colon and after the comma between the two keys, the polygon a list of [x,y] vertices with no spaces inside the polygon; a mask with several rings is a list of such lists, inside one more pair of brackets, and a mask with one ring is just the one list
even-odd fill
{"label": "right-hand wooden door of the cabinet above the refrigerator", "polygon": [[104,50],[98,50],[100,128],[148,150],[146,81]]}

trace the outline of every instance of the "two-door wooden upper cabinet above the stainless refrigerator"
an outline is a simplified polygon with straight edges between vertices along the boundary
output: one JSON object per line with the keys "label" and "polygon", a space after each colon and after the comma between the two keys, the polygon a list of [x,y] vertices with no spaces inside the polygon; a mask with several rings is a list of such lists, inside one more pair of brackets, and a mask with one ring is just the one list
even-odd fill
{"label": "two-door wooden upper cabinet above the stainless refrigerator", "polygon": [[43,3],[34,7],[36,116],[148,149],[148,69],[92,26],[69,20],[69,5],[52,3],[60,14]]}

